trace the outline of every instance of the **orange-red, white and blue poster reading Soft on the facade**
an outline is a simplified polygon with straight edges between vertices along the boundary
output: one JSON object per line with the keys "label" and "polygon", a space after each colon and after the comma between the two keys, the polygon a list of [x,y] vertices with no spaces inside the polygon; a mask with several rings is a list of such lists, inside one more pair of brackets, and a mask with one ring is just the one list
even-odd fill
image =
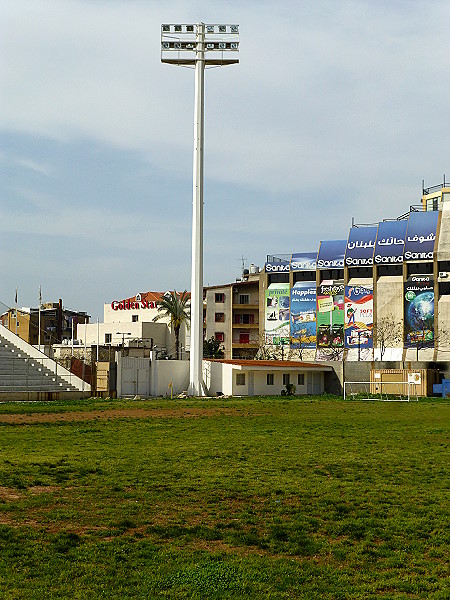
{"label": "orange-red, white and blue poster reading Soft on the facade", "polygon": [[345,347],[373,348],[373,286],[345,286]]}

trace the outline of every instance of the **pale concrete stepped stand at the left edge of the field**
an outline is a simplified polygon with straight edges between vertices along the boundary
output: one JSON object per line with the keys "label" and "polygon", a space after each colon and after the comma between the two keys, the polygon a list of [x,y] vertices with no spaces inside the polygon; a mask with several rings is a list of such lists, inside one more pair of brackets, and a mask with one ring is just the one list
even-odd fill
{"label": "pale concrete stepped stand at the left edge of the field", "polygon": [[0,325],[0,394],[15,399],[89,396],[90,385]]}

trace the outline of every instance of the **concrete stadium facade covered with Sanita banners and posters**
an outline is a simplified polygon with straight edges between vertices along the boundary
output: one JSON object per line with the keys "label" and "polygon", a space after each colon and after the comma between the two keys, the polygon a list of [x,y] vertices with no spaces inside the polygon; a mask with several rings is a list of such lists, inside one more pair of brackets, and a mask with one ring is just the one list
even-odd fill
{"label": "concrete stadium facade covered with Sanita banners and posters", "polygon": [[268,256],[261,334],[301,360],[450,361],[450,186],[317,251]]}

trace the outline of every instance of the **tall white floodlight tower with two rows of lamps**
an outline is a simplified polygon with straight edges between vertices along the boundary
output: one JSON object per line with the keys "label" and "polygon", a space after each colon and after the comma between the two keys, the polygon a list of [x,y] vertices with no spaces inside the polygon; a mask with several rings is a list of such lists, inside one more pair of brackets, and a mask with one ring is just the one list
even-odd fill
{"label": "tall white floodlight tower with two rows of lamps", "polygon": [[203,141],[205,67],[239,62],[238,25],[162,25],[161,62],[195,67],[190,396],[203,396]]}

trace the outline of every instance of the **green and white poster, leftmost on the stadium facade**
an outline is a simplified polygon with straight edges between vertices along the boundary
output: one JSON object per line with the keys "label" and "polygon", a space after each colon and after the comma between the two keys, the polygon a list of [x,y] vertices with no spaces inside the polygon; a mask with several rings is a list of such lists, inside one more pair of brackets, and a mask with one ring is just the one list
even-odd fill
{"label": "green and white poster, leftmost on the stadium facade", "polygon": [[266,344],[289,344],[289,284],[271,283],[265,293]]}

